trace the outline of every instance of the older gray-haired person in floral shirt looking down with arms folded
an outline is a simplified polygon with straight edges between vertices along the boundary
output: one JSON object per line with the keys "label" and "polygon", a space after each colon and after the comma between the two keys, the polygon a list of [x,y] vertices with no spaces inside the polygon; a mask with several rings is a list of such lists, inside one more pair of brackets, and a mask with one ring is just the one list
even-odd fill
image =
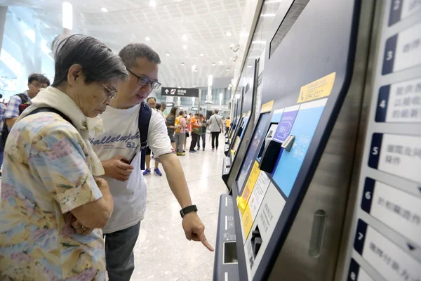
{"label": "older gray-haired person in floral shirt looking down with arms folded", "polygon": [[[106,280],[101,228],[113,200],[88,141],[127,72],[105,44],[53,41],[55,77],[8,136],[0,204],[0,280]],[[89,118],[88,118],[89,117]]]}

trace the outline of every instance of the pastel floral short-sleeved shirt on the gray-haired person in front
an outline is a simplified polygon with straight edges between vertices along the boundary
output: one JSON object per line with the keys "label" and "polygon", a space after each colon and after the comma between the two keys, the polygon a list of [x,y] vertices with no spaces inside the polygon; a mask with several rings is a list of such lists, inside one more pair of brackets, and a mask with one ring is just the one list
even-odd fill
{"label": "pastel floral short-sleeved shirt on the gray-haired person in front", "polygon": [[0,280],[106,280],[102,230],[79,235],[69,211],[102,197],[86,144],[59,115],[17,122],[4,153]]}

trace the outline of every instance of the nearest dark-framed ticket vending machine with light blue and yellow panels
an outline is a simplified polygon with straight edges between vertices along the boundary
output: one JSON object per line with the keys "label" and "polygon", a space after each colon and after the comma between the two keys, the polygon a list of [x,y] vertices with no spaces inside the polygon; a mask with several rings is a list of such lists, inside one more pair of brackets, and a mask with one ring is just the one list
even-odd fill
{"label": "nearest dark-framed ticket vending machine with light blue and yellow panels", "polygon": [[[267,38],[258,122],[232,195],[220,197],[214,280],[347,280],[344,268],[366,266],[350,259],[343,245],[383,6],[370,0],[282,1]],[[373,141],[380,157],[387,149],[380,149],[384,136]],[[359,241],[366,237],[364,226]],[[352,270],[349,280],[356,275]]]}

